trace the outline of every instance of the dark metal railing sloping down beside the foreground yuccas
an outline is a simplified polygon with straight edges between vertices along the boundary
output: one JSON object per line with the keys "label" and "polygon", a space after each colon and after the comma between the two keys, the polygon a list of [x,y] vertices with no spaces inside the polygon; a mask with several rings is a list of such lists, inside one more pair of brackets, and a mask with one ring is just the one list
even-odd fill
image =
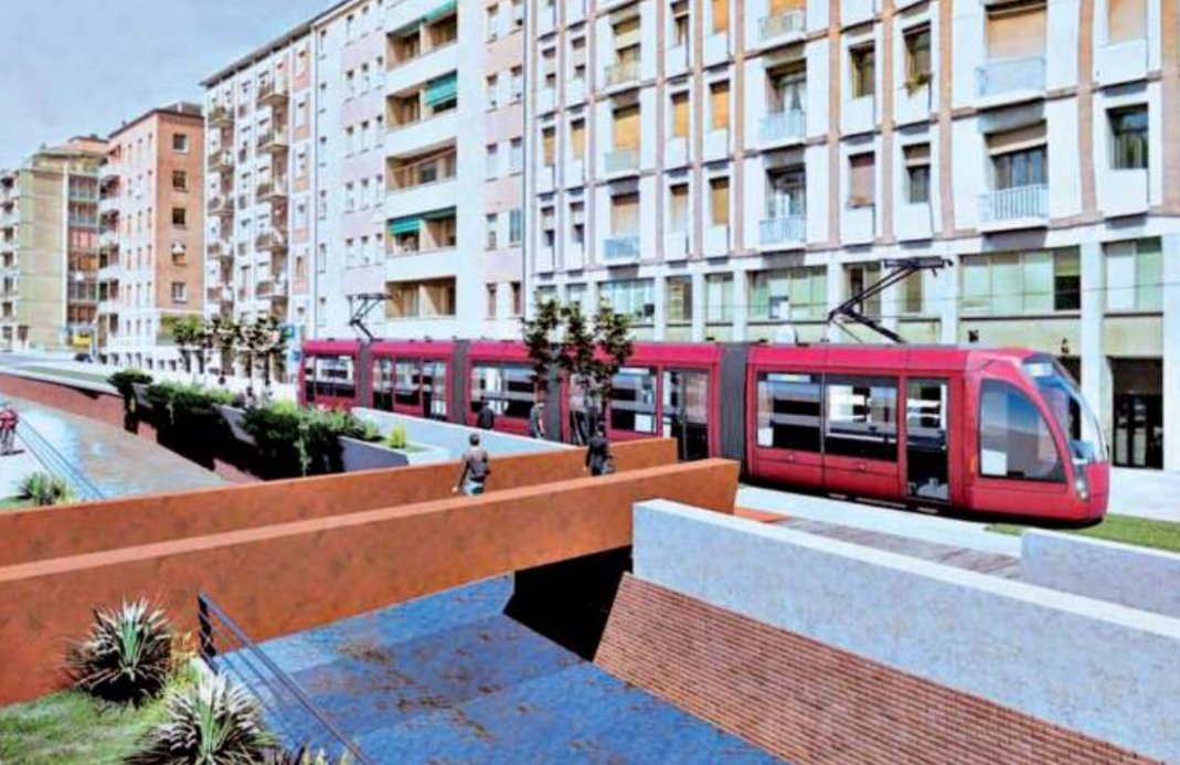
{"label": "dark metal railing sloping down beside the foreground yuccas", "polygon": [[262,707],[267,722],[289,745],[323,748],[336,758],[347,752],[360,765],[374,765],[365,751],[336,727],[295,679],[276,665],[205,593],[197,595],[201,659],[216,674],[235,680]]}

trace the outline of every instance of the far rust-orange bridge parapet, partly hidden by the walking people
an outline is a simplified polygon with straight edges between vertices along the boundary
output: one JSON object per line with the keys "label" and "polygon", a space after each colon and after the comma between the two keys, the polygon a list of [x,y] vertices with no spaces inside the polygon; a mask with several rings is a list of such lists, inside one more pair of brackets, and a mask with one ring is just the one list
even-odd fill
{"label": "far rust-orange bridge parapet, partly hidden by the walking people", "polygon": [[[676,462],[674,439],[612,447],[620,472]],[[578,478],[582,450],[492,456],[487,490]],[[0,514],[0,565],[445,499],[459,463],[275,480]]]}

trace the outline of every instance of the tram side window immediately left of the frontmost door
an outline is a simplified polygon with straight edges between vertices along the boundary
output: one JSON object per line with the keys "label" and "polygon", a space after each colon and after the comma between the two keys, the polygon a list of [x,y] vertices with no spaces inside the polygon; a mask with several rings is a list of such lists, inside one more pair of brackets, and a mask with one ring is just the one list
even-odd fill
{"label": "tram side window immediately left of the frontmost door", "polygon": [[897,462],[897,382],[830,378],[824,452]]}

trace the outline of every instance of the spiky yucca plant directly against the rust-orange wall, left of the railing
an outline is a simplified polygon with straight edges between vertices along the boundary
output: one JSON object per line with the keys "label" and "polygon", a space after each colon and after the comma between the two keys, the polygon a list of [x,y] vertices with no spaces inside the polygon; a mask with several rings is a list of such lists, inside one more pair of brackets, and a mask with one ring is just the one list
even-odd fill
{"label": "spiky yucca plant directly against the rust-orange wall, left of the railing", "polygon": [[90,635],[70,646],[74,686],[107,701],[139,704],[159,695],[172,671],[172,627],[148,601],[94,609]]}

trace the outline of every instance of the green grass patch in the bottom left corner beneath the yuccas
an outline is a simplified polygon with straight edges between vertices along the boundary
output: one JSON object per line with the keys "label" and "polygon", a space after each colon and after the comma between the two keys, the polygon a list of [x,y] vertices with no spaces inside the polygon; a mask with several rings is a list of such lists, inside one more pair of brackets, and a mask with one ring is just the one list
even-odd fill
{"label": "green grass patch in the bottom left corner beneath the yuccas", "polygon": [[96,701],[78,691],[0,710],[0,763],[122,763],[164,719],[164,701],[139,708]]}

